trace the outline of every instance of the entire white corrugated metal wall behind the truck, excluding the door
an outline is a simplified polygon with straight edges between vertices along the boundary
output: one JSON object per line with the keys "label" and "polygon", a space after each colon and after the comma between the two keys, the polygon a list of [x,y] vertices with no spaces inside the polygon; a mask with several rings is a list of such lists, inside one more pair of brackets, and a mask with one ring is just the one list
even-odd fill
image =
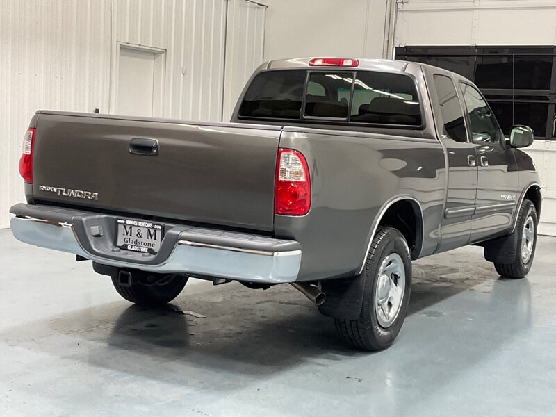
{"label": "entire white corrugated metal wall behind the truck, excluding the door", "polygon": [[[24,200],[17,161],[31,116],[39,108],[113,113],[118,44],[165,49],[163,116],[220,121],[226,20],[226,0],[0,0],[0,227]],[[247,54],[243,72],[238,61],[229,65],[230,91],[262,60],[260,22],[251,11],[232,17],[227,33]]]}

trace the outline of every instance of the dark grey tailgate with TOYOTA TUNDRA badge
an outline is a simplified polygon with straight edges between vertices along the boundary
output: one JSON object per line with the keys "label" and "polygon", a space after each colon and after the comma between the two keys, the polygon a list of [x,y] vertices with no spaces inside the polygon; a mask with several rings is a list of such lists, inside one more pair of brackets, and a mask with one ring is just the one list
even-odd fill
{"label": "dark grey tailgate with TOYOTA TUNDRA badge", "polygon": [[272,230],[279,127],[43,112],[36,129],[35,201]]}

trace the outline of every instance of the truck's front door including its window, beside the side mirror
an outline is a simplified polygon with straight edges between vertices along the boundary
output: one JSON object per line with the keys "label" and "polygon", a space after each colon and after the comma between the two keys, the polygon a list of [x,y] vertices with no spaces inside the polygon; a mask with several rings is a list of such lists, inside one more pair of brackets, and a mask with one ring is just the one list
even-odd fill
{"label": "truck's front door including its window, beside the side mirror", "polygon": [[460,83],[471,140],[477,152],[477,198],[471,240],[478,242],[512,227],[518,197],[514,150],[506,147],[496,117],[477,88]]}

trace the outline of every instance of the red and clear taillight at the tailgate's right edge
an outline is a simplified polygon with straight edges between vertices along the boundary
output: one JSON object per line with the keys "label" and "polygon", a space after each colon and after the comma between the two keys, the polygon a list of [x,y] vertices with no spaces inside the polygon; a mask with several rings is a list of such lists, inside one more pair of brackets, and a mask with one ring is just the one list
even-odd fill
{"label": "red and clear taillight at the tailgate's right edge", "polygon": [[304,215],[311,208],[309,167],[301,152],[278,149],[274,187],[274,213]]}

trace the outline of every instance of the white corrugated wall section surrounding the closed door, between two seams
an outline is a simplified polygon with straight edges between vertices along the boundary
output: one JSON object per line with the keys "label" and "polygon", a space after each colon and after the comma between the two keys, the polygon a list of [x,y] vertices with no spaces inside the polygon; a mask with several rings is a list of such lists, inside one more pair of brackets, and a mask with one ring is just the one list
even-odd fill
{"label": "white corrugated wall section surrounding the closed door, between two seams", "polygon": [[117,42],[165,49],[163,116],[216,121],[222,112],[225,28],[222,0],[114,1],[113,56]]}

